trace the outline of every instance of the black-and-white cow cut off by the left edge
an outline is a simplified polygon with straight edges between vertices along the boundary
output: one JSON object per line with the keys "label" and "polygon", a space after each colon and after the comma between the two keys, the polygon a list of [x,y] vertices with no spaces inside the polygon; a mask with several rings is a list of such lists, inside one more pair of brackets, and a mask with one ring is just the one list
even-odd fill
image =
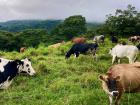
{"label": "black-and-white cow cut off by the left edge", "polygon": [[0,89],[10,86],[14,77],[21,72],[26,72],[31,76],[35,74],[31,62],[27,58],[23,60],[0,58]]}

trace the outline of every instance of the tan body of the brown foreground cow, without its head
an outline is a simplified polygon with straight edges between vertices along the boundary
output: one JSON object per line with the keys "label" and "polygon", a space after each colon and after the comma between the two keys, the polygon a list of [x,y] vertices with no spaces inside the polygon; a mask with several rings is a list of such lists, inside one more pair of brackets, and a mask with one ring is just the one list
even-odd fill
{"label": "tan body of the brown foreground cow, without its head", "polygon": [[107,73],[111,73],[114,78],[120,76],[119,84],[125,92],[140,90],[140,65],[119,64],[112,66]]}

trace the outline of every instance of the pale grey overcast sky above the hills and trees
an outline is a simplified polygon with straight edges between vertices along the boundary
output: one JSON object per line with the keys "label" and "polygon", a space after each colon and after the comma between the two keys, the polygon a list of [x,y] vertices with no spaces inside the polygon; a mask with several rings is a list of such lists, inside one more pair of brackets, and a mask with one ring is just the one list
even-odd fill
{"label": "pale grey overcast sky above the hills and trees", "polygon": [[128,4],[140,11],[140,0],[0,0],[0,21],[83,15],[87,21],[103,22],[107,14]]}

